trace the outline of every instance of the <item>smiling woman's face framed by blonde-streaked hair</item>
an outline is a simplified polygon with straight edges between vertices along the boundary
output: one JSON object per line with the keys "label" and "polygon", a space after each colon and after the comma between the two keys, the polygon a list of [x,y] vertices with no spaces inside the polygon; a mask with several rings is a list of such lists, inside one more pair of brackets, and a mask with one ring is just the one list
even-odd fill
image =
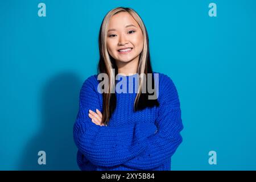
{"label": "smiling woman's face framed by blonde-streaked hair", "polygon": [[110,18],[106,44],[115,61],[128,63],[139,60],[143,49],[143,35],[133,16],[121,12]]}

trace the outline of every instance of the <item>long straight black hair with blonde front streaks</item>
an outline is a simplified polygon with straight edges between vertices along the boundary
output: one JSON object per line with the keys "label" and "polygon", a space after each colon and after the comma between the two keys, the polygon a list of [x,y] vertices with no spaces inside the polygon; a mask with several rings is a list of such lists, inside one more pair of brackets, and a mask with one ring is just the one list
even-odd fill
{"label": "long straight black hair with blonde front streaks", "polygon": [[[107,28],[109,19],[120,12],[127,12],[133,18],[137,21],[139,24],[142,34],[143,34],[143,50],[139,55],[139,65],[137,68],[137,73],[141,75],[141,73],[144,73],[147,77],[147,73],[153,73],[152,67],[150,63],[150,52],[149,52],[149,46],[148,46],[148,34],[146,27],[144,26],[144,23],[141,19],[141,17],[131,8],[127,7],[117,7],[113,10],[110,10],[104,17],[101,23],[100,28],[100,34],[98,36],[98,46],[100,51],[100,61],[98,63],[98,73],[106,73],[109,77],[109,84],[108,84],[108,93],[103,93],[103,113],[102,113],[102,122],[104,124],[108,124],[109,119],[112,116],[112,113],[115,110],[115,107],[117,105],[117,97],[115,96],[115,93],[112,92],[114,89],[114,85],[117,83],[115,80],[115,77],[118,74],[118,68],[115,64],[115,60],[112,56],[109,55],[107,45],[106,45],[106,38],[107,38]],[[112,69],[115,70],[115,73],[113,74]],[[153,76],[154,77],[154,76]],[[152,77],[152,85],[154,86],[154,78]],[[146,93],[142,93],[142,85],[143,82],[147,81],[144,80],[144,77],[139,76],[139,86],[138,86],[138,92],[137,96],[134,101],[134,111],[143,110],[146,107],[153,107],[153,106],[159,106],[158,100],[148,100],[148,96],[150,93],[148,93],[148,90],[146,89]],[[147,87],[146,87],[147,88]],[[154,86],[155,89],[155,86]],[[155,90],[156,91],[156,90]],[[153,92],[154,93],[154,92]]]}

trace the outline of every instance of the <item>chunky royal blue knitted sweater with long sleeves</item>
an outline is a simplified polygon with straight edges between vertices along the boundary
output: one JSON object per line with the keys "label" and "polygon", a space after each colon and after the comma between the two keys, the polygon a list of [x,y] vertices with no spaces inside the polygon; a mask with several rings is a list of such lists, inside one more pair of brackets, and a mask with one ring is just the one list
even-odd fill
{"label": "chunky royal blue knitted sweater with long sleeves", "polygon": [[[157,72],[153,72],[157,73]],[[134,112],[137,93],[117,93],[117,107],[108,126],[94,124],[89,109],[102,113],[103,95],[97,91],[100,81],[90,76],[82,84],[79,111],[73,127],[77,164],[81,170],[132,171],[171,170],[171,156],[182,142],[180,101],[171,78],[159,73],[159,106]]]}

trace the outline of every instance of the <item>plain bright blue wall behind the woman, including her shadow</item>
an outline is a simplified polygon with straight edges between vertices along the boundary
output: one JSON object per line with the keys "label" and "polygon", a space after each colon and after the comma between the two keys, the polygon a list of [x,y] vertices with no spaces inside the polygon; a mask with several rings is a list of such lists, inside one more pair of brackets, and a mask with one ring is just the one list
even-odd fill
{"label": "plain bright blue wall behind the woman, including her shadow", "polygon": [[[184,130],[172,169],[255,170],[254,0],[0,1],[0,169],[79,169],[79,92],[96,74],[101,21],[117,6],[141,15],[153,70],[177,87]],[[38,165],[40,150],[47,165]]]}

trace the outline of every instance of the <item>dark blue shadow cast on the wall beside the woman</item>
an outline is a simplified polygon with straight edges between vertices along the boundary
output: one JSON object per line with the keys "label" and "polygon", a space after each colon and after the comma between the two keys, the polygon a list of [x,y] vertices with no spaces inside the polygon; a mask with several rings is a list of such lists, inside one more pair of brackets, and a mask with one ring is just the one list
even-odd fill
{"label": "dark blue shadow cast on the wall beside the woman", "polygon": [[[42,90],[42,129],[28,141],[22,152],[19,170],[79,170],[73,124],[79,110],[81,81],[73,73],[62,73],[47,82]],[[38,152],[46,152],[46,165],[38,164]]]}

